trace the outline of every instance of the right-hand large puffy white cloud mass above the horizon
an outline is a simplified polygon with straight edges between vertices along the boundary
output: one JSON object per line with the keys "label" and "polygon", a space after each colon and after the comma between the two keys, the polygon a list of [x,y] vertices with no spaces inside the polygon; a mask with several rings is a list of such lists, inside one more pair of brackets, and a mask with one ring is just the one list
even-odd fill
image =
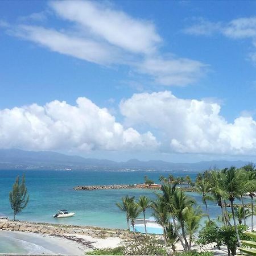
{"label": "right-hand large puffy white cloud mass above the horizon", "polygon": [[217,103],[184,100],[168,91],[134,94],[120,104],[129,125],[162,132],[169,152],[256,154],[254,119],[241,116],[229,123],[220,109]]}

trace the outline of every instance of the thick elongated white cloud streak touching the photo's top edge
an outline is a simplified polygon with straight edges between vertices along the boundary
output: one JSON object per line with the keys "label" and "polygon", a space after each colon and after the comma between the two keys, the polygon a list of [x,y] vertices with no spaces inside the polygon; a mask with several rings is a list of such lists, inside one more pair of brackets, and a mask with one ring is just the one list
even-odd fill
{"label": "thick elongated white cloud streak touching the photo's top edge", "polygon": [[122,11],[89,1],[54,1],[51,7],[61,18],[88,28],[110,44],[138,53],[150,53],[161,41],[154,24],[131,18]]}

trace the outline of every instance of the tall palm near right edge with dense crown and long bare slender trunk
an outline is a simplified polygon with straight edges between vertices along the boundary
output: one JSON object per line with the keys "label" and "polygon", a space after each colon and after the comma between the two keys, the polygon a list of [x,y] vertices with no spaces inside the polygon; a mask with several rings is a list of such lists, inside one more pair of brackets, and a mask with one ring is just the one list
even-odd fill
{"label": "tall palm near right edge with dense crown and long bare slender trunk", "polygon": [[248,181],[247,183],[242,183],[241,180],[245,180],[245,172],[238,171],[236,167],[230,167],[223,174],[222,187],[225,188],[226,193],[228,194],[228,199],[231,204],[232,216],[234,221],[234,228],[236,229],[238,245],[241,246],[240,237],[238,234],[236,216],[234,214],[234,205],[233,202],[236,197],[243,195],[246,191],[253,187],[253,183]]}

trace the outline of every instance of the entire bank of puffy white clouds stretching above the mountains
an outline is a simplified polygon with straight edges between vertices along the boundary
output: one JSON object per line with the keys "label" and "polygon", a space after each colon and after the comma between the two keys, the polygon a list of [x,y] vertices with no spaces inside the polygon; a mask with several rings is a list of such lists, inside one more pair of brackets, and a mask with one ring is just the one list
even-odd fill
{"label": "entire bank of puffy white clouds stretching above the mountains", "polygon": [[0,110],[0,148],[256,155],[256,121],[229,123],[217,103],[165,91],[134,94],[119,108],[123,122],[85,97]]}

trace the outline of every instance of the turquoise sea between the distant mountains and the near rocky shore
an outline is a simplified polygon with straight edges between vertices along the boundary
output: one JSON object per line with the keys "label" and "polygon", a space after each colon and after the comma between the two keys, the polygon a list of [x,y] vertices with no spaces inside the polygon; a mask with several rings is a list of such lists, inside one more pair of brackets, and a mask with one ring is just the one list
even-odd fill
{"label": "turquoise sea between the distant mountains and the near rocky shore", "polygon": [[[0,171],[0,215],[13,218],[13,210],[9,203],[9,192],[12,189],[16,176],[25,175],[27,191],[30,200],[26,209],[16,216],[18,220],[49,222],[53,224],[72,224],[99,226],[104,228],[126,228],[126,217],[115,205],[123,196],[146,195],[155,199],[155,193],[148,189],[105,189],[94,191],[75,191],[77,185],[112,185],[112,184],[138,184],[143,183],[144,176],[159,183],[159,176],[189,175],[195,180],[196,173],[188,172],[156,172],[156,171]],[[205,210],[200,194],[187,192],[195,198],[198,205]],[[214,201],[209,201],[209,213],[211,218],[217,218],[220,207]],[[75,212],[70,218],[53,218],[53,214],[59,209],[67,209]],[[150,217],[151,210],[146,211],[146,217]],[[142,216],[141,216],[142,217]],[[8,248],[21,248],[20,241],[6,238],[8,243],[1,243],[0,253],[12,253]],[[7,246],[13,244],[13,246]],[[24,253],[15,249],[16,252]],[[29,252],[28,252],[29,253]]]}

